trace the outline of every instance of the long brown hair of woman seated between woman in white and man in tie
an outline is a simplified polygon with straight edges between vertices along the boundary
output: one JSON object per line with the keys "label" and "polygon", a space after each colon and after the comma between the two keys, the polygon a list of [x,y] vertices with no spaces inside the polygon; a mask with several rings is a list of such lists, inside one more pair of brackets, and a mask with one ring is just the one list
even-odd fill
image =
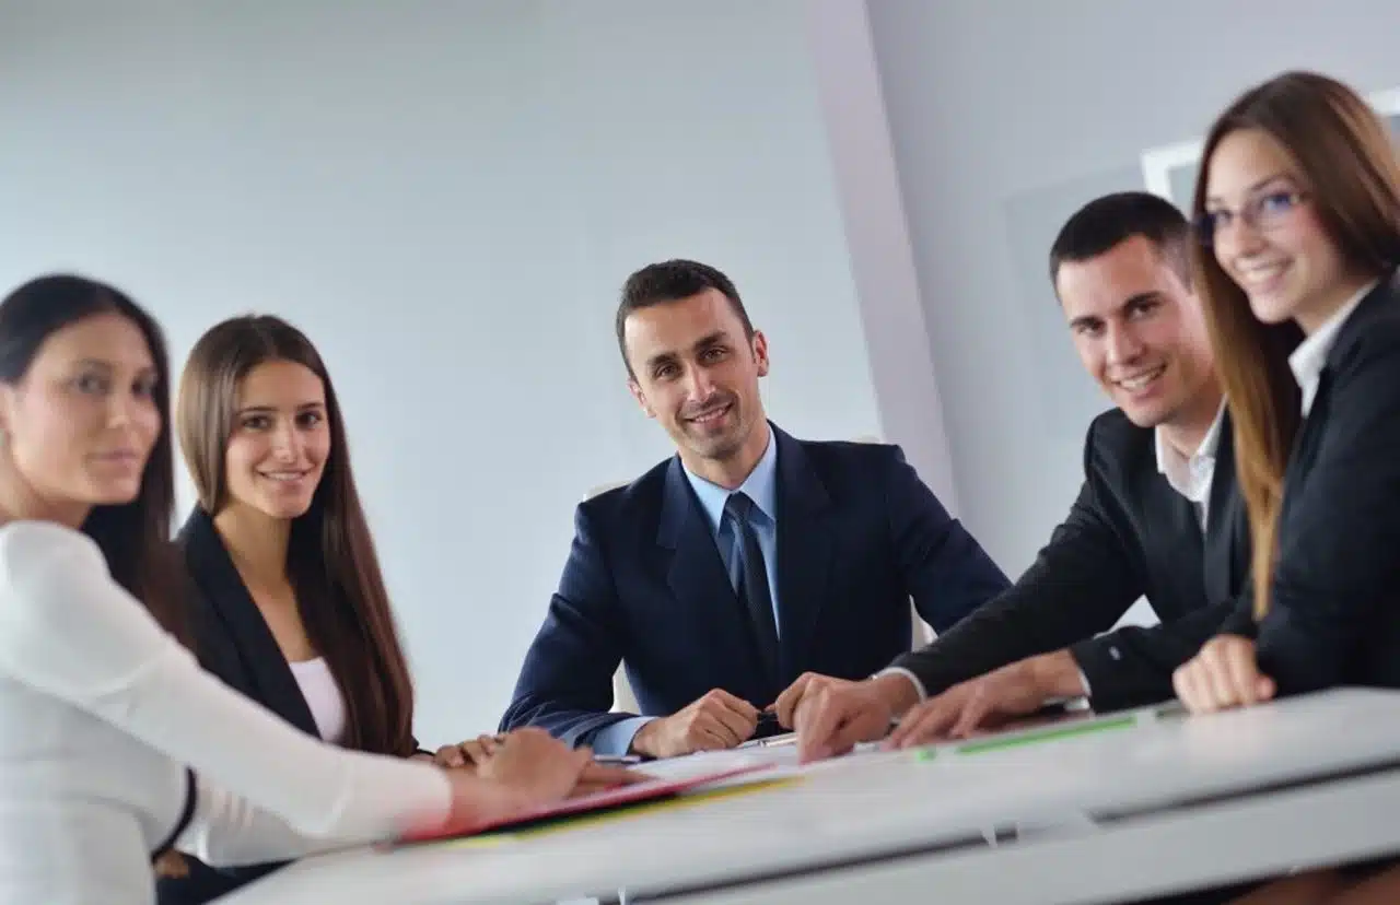
{"label": "long brown hair of woman seated between woman in white and man in tie", "polygon": [[326,392],[330,455],[305,515],[293,519],[287,575],[307,635],[346,698],[344,746],[377,754],[413,753],[413,683],[379,572],[374,539],[350,471],[350,448],[336,392],[315,345],[272,316],[242,316],[211,327],[181,376],[176,428],[199,505],[217,515],[228,502],[225,452],[238,387],[260,364],[305,366]]}

